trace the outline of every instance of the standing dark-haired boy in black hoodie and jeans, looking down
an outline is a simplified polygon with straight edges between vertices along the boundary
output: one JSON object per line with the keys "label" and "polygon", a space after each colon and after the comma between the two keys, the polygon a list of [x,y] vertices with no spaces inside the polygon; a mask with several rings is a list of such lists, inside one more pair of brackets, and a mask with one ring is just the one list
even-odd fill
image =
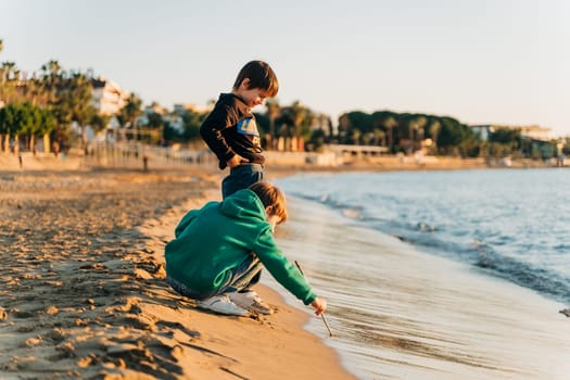
{"label": "standing dark-haired boy in black hoodie and jeans, looking down", "polygon": [[263,61],[251,61],[239,72],[231,92],[219,96],[202,123],[200,134],[218,157],[219,168],[230,168],[221,182],[224,198],[263,180],[265,157],[251,110],[278,90],[271,67]]}

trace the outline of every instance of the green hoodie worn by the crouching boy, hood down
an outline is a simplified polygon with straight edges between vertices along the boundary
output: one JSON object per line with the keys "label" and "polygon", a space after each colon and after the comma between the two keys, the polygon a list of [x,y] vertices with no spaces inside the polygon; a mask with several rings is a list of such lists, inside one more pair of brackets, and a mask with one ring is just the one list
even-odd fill
{"label": "green hoodie worn by the crouching boy, hood down", "polygon": [[262,201],[248,189],[183,216],[166,244],[166,273],[194,291],[210,292],[224,284],[250,252],[305,305],[317,297],[277,246]]}

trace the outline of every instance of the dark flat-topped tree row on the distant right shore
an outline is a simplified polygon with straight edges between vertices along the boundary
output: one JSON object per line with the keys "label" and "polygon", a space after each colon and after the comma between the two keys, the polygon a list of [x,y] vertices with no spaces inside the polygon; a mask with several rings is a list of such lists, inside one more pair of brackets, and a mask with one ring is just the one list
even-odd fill
{"label": "dark flat-topped tree row on the distant right shore", "polygon": [[548,159],[570,151],[570,139],[537,141],[516,128],[490,128],[486,139],[469,126],[448,116],[377,111],[349,112],[339,118],[338,140],[342,143],[388,147],[390,152],[426,149],[431,154],[470,157]]}

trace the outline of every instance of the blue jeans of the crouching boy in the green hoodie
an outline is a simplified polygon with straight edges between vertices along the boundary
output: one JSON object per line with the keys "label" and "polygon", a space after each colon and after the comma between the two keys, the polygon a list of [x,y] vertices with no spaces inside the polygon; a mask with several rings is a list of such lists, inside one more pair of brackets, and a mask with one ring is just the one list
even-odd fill
{"label": "blue jeans of the crouching boy in the green hoodie", "polygon": [[240,265],[231,269],[231,276],[226,283],[211,292],[192,290],[170,276],[166,276],[166,281],[178,294],[192,300],[203,301],[224,293],[249,290],[255,283],[259,282],[262,267],[263,264],[259,258],[252,253]]}

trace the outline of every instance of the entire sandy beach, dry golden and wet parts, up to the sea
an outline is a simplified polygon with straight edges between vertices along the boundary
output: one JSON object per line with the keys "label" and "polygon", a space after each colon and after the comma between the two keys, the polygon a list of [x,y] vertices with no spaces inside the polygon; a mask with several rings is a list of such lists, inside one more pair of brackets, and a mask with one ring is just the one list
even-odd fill
{"label": "entire sandy beach, dry golden and wet parts, up to the sea", "polygon": [[[165,282],[165,243],[188,210],[219,200],[224,172],[3,164],[2,379],[563,379],[570,371],[565,305],[346,227],[338,211],[292,198],[290,220],[276,233],[329,300],[329,338],[266,271],[256,290],[276,309],[270,316],[211,314]],[[286,164],[267,177],[422,169],[405,164]],[[366,287],[375,305],[349,297],[349,288]],[[365,355],[351,355],[347,340]]]}

